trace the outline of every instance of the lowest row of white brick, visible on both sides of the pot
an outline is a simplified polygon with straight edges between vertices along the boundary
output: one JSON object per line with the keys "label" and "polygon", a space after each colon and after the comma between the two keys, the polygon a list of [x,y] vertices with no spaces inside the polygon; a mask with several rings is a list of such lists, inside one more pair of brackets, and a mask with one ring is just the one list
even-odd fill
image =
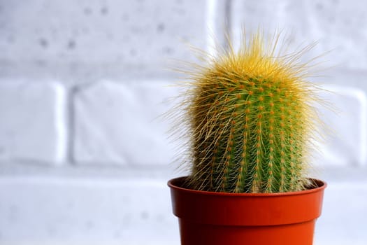
{"label": "lowest row of white brick, visible on both sides of the pot", "polygon": [[[338,174],[326,179],[315,244],[366,244],[366,169]],[[1,176],[0,200],[1,244],[180,244],[161,179]]]}

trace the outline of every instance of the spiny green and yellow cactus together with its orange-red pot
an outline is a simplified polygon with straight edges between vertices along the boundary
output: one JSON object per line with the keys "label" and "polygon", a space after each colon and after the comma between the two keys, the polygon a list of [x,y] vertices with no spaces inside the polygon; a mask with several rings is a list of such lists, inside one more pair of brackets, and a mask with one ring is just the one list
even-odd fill
{"label": "spiny green and yellow cactus together with its orange-red pot", "polygon": [[326,187],[306,175],[315,86],[278,40],[244,38],[185,83],[190,174],[168,181],[182,245],[312,244]]}

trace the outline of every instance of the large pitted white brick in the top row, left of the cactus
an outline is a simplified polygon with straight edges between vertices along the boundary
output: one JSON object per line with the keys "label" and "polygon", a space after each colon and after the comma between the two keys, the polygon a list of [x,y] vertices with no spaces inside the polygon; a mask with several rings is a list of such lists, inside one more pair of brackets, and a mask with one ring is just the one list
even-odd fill
{"label": "large pitted white brick in the top row, left of the cactus", "polygon": [[[90,76],[91,72],[159,76],[175,66],[173,59],[192,60],[187,43],[206,49],[207,27],[216,31],[210,25],[222,25],[223,15],[216,14],[222,4],[195,0],[7,1],[1,4],[0,59],[10,64],[8,69],[17,66],[27,73],[31,73],[27,67],[34,65],[40,73],[53,71],[61,76],[69,76],[70,71],[74,76]],[[209,24],[208,5],[214,8]],[[12,73],[4,68],[2,72]]]}

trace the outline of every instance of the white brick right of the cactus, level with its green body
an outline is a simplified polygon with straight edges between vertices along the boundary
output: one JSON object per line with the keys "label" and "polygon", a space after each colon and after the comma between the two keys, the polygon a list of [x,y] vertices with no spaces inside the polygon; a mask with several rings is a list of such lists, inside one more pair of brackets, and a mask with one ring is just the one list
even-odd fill
{"label": "white brick right of the cactus, level with its green body", "polygon": [[367,157],[367,97],[357,88],[323,85],[326,106],[319,115],[326,125],[316,162],[321,165],[365,165]]}

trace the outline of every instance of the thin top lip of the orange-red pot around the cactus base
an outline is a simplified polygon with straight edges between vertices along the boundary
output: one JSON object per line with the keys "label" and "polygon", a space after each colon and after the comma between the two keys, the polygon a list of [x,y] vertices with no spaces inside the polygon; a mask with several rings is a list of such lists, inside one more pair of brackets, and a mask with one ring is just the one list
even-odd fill
{"label": "thin top lip of the orange-red pot around the cactus base", "polygon": [[288,195],[306,195],[309,193],[316,193],[320,190],[326,188],[327,183],[325,181],[319,179],[308,178],[312,183],[315,183],[316,188],[310,188],[308,190],[299,190],[294,192],[286,192],[286,193],[220,193],[213,191],[205,191],[205,190],[192,190],[188,188],[183,188],[178,186],[178,183],[182,183],[184,179],[188,176],[181,176],[178,178],[174,178],[168,181],[167,186],[176,190],[183,191],[185,193],[192,193],[198,195],[215,195],[215,196],[230,196],[230,197],[279,197],[279,196],[288,196]]}

